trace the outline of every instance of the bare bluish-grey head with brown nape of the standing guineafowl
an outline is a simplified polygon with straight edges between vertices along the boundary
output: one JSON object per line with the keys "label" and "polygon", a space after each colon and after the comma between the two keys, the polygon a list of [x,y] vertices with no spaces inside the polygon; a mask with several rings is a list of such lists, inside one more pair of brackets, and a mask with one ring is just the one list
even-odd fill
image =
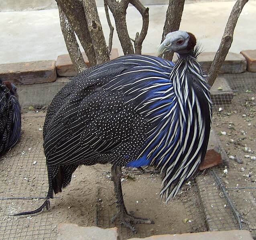
{"label": "bare bluish-grey head with brown nape of the standing guineafowl", "polygon": [[166,35],[165,40],[156,50],[156,56],[166,52],[177,52],[186,54],[193,50],[197,43],[195,36],[190,32],[175,31]]}

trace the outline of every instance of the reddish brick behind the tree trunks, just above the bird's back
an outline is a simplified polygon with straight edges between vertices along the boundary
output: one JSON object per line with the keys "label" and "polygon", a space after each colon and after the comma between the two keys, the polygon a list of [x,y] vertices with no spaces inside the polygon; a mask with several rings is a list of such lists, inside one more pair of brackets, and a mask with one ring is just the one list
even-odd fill
{"label": "reddish brick behind the tree trunks, just above the bird's back", "polygon": [[[90,67],[88,58],[85,52],[82,52],[83,59],[87,67]],[[113,48],[110,53],[110,60],[118,57],[118,50],[117,48]],[[69,54],[59,55],[56,61],[56,70],[57,74],[62,77],[72,77],[75,76],[78,72],[75,70],[73,63]]]}

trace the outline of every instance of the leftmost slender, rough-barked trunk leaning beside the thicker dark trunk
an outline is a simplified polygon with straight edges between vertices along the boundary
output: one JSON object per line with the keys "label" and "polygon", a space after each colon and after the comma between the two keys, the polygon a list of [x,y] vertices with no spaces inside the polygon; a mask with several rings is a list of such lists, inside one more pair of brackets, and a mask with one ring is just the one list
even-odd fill
{"label": "leftmost slender, rough-barked trunk leaning beside the thicker dark trunk", "polygon": [[69,23],[69,20],[67,19],[65,13],[61,9],[61,6],[59,6],[59,4],[57,4],[57,6],[59,8],[59,19],[61,23],[61,30],[64,36],[67,50],[69,52],[69,56],[75,67],[75,70],[77,70],[77,72],[82,72],[87,68],[87,66],[83,60],[83,56],[79,49],[79,45],[77,44],[75,32],[71,24]]}

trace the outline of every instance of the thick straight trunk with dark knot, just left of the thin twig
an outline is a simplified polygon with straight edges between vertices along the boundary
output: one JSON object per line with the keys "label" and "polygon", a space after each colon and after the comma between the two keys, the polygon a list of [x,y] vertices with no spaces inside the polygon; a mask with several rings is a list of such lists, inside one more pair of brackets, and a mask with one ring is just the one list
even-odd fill
{"label": "thick straight trunk with dark knot, just left of the thin twig", "polygon": [[102,31],[95,0],[83,0],[85,18],[94,47],[97,64],[109,61],[109,52]]}

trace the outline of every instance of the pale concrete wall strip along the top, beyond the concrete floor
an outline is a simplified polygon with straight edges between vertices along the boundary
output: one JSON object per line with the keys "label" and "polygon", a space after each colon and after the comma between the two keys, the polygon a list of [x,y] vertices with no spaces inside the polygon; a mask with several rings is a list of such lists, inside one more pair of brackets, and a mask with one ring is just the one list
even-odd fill
{"label": "pale concrete wall strip along the top, beyond the concrete floor", "polygon": [[[168,4],[169,0],[141,0],[143,5]],[[103,0],[96,0],[97,6],[104,6]],[[57,8],[55,0],[0,0],[0,12],[42,10]]]}

